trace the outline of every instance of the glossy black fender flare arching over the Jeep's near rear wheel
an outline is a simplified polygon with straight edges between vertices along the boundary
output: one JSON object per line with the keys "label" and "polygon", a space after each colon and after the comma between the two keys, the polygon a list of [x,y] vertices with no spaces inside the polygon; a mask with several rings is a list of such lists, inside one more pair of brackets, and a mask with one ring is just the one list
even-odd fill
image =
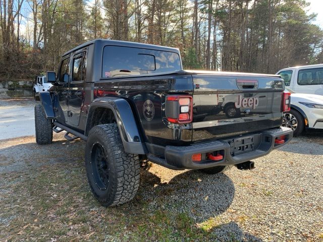
{"label": "glossy black fender flare arching over the Jeep's near rear wheel", "polygon": [[118,97],[99,97],[93,100],[89,105],[88,116],[86,120],[85,135],[89,133],[90,119],[95,109],[103,107],[111,109],[115,115],[116,122],[120,131],[122,143],[127,153],[131,154],[147,154],[147,148],[142,140],[142,136],[138,130],[136,119],[134,117],[131,106],[128,101]]}

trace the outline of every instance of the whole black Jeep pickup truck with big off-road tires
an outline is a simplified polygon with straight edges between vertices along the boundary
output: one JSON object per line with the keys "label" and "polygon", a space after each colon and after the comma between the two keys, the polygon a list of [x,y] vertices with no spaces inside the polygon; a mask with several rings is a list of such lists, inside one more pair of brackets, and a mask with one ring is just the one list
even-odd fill
{"label": "whole black Jeep pickup truck with big off-road tires", "polygon": [[[280,76],[183,71],[178,49],[93,40],[63,54],[35,106],[36,142],[86,141],[90,188],[104,206],[134,198],[140,162],[170,169],[251,169],[293,136]],[[68,155],[68,154],[67,154]]]}

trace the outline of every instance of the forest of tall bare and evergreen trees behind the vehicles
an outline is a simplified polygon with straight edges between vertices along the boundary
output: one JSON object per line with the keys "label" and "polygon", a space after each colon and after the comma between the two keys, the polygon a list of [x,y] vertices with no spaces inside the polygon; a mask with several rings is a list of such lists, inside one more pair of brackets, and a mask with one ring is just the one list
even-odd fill
{"label": "forest of tall bare and evergreen trees behind the vehicles", "polygon": [[[0,0],[0,80],[58,68],[96,38],[179,48],[185,69],[275,74],[323,63],[303,0]],[[319,11],[319,9],[317,10]]]}

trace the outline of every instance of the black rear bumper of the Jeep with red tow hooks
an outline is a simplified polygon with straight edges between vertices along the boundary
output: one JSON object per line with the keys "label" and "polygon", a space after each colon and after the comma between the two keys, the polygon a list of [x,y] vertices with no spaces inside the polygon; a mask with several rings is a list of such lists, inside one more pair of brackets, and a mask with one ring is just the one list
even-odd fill
{"label": "black rear bumper of the Jeep with red tow hooks", "polygon": [[[284,143],[275,142],[277,138],[282,136],[284,136]],[[166,146],[164,157],[148,154],[148,160],[171,169],[202,169],[219,165],[235,165],[264,156],[273,149],[287,144],[292,137],[293,131],[291,129],[280,127],[230,139],[195,143],[189,146]],[[198,153],[202,154],[202,160],[193,161],[192,155]],[[218,161],[209,160],[205,158],[205,154],[208,153],[221,154],[223,158]]]}

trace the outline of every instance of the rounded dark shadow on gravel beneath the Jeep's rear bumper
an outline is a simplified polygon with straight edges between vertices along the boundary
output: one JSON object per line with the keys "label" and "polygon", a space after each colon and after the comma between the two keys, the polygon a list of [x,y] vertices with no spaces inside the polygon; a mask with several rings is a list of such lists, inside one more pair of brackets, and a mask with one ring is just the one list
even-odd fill
{"label": "rounded dark shadow on gravel beneath the Jeep's rear bumper", "polygon": [[196,222],[218,216],[226,211],[234,198],[233,181],[225,173],[204,174],[189,170],[161,183],[155,174],[142,172],[141,194],[152,208],[188,213]]}

